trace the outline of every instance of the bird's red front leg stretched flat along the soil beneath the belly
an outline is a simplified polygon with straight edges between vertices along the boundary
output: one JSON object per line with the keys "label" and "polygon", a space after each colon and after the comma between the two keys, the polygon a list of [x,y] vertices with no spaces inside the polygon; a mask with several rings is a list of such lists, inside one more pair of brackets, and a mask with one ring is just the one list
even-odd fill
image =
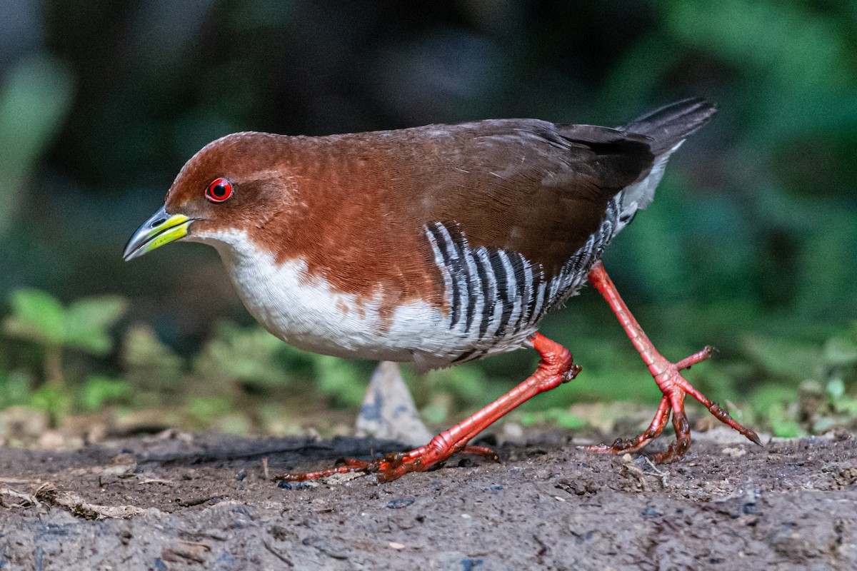
{"label": "bird's red front leg stretched flat along the soil beneath the belly", "polygon": [[495,420],[518,407],[533,396],[567,383],[580,372],[579,365],[572,365],[572,354],[559,343],[538,333],[531,337],[533,348],[542,356],[530,378],[482,408],[478,413],[464,419],[447,431],[440,432],[431,442],[411,452],[393,452],[375,461],[348,459],[342,466],[318,472],[282,473],[273,479],[301,481],[325,478],[338,473],[375,473],[378,481],[389,482],[409,472],[423,472],[456,452],[479,454],[497,459],[494,451],[482,446],[467,446],[467,443],[485,430]]}

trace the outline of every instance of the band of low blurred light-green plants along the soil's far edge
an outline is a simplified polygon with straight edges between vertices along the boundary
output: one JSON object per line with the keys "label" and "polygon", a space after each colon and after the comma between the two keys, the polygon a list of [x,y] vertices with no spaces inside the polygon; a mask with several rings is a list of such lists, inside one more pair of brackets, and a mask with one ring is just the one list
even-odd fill
{"label": "band of low blurred light-green plants along the soil's far edge", "polygon": [[[321,403],[357,407],[371,370],[368,363],[291,348],[258,325],[223,322],[200,353],[187,360],[160,342],[147,326],[129,326],[117,355],[119,375],[106,376],[93,371],[111,368],[106,361],[112,338],[121,333],[109,328],[122,316],[125,300],[88,298],[63,307],[45,292],[26,289],[13,292],[11,306],[13,313],[3,319],[5,335],[32,344],[45,361],[56,351],[57,361],[45,364],[36,352],[13,361],[8,370],[0,369],[0,408],[24,405],[44,410],[54,425],[61,425],[70,414],[104,407],[125,411],[175,407],[183,410],[179,418],[190,427],[279,433],[288,422],[282,415],[296,398],[298,407],[312,402],[309,410]],[[578,379],[555,390],[552,398],[537,397],[514,418],[523,425],[552,423],[561,428],[612,425],[614,412],[589,408],[581,414],[577,408],[605,395],[615,400],[650,396],[654,408],[657,390],[636,355],[615,352],[594,341],[583,345],[595,364],[588,382]],[[732,407],[733,400],[746,401],[749,410],[732,411],[743,421],[768,427],[782,437],[857,425],[857,321],[823,345],[753,335],[745,336],[740,348],[739,355],[701,369],[694,383],[705,391],[716,390]],[[93,354],[101,362],[66,372],[62,354],[70,349]],[[759,383],[740,390],[734,379],[741,376],[757,378]],[[424,417],[433,423],[451,422],[450,417],[482,407],[514,384],[492,381],[482,368],[472,365],[407,378]],[[599,389],[599,383],[607,386]],[[281,407],[276,406],[278,402]],[[296,424],[293,430],[297,428]]]}

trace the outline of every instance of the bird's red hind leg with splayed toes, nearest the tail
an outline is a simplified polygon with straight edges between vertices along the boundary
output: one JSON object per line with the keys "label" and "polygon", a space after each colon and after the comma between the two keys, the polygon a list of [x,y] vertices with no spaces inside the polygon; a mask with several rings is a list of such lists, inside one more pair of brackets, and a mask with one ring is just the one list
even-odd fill
{"label": "bird's red hind leg with splayed toes, nearest the tail", "polygon": [[701,392],[696,390],[686,378],[681,376],[680,371],[682,369],[689,369],[692,365],[708,359],[714,348],[706,347],[702,351],[680,360],[678,363],[671,363],[662,354],[657,352],[649,337],[643,332],[643,328],[637,323],[637,319],[628,311],[628,307],[622,301],[619,292],[616,291],[616,286],[607,275],[607,271],[604,270],[604,265],[600,261],[592,266],[589,281],[602,294],[604,299],[607,300],[610,309],[616,314],[616,318],[619,319],[622,328],[628,334],[628,337],[631,338],[631,342],[637,348],[646,366],[649,367],[651,376],[655,378],[658,389],[663,393],[663,398],[661,399],[660,406],[657,408],[655,419],[651,421],[649,428],[638,437],[627,440],[617,439],[610,446],[588,446],[586,447],[587,449],[595,452],[610,452],[614,454],[634,452],[641,449],[653,438],[661,434],[664,426],[667,425],[669,413],[672,411],[675,442],[669,444],[666,452],[657,454],[654,458],[655,461],[659,462],[671,462],[680,459],[691,445],[690,425],[685,415],[685,394],[701,402],[704,407],[708,408],[710,413],[714,414],[716,419],[739,431],[752,442],[761,444],[755,432],[738,424],[720,405],[714,401],[710,401]]}

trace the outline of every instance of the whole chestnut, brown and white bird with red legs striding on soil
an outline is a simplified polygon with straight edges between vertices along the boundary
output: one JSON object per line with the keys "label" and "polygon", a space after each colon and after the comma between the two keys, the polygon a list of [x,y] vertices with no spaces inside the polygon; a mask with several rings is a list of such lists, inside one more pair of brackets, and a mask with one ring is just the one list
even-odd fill
{"label": "whole chestnut, brown and white bird with red legs striding on soil", "polygon": [[581,371],[538,327],[587,282],[662,391],[644,432],[587,449],[638,451],[671,416],[675,440],[653,457],[679,460],[691,443],[686,395],[760,443],[682,375],[713,349],[663,357],[602,262],[654,198],[668,158],[715,111],[689,98],[616,128],[492,119],[327,136],[228,134],[183,166],[123,258],[173,241],[211,245],[256,320],[318,354],[409,362],[417,372],[518,348],[540,356],[515,389],[422,447],[279,479],[358,472],[390,481],[457,452],[496,459],[468,443]]}

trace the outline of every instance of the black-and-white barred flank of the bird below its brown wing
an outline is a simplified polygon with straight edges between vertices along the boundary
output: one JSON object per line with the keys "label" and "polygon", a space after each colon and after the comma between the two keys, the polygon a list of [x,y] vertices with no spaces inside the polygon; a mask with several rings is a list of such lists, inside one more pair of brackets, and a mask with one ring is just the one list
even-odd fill
{"label": "black-and-white barred flank of the bird below its brown wing", "polygon": [[550,280],[542,265],[521,253],[471,248],[457,223],[426,225],[434,262],[446,285],[446,325],[460,336],[452,363],[518,347],[546,312],[577,293],[604,247],[626,224],[620,220],[620,202],[617,196],[608,203],[601,226]]}

